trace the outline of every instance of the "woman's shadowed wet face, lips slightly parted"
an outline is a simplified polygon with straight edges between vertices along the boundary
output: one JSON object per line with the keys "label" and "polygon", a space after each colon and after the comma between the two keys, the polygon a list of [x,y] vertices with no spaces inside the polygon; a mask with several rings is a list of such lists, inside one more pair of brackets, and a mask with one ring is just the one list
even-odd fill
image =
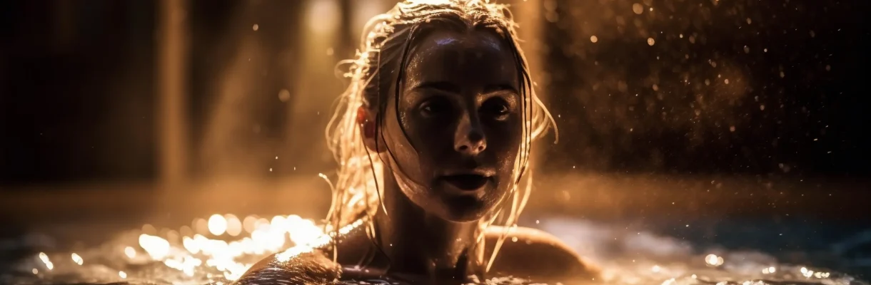
{"label": "woman's shadowed wet face, lips slightly parted", "polygon": [[398,101],[388,96],[385,158],[419,207],[476,221],[513,179],[523,121],[514,55],[490,31],[436,30],[409,52]]}

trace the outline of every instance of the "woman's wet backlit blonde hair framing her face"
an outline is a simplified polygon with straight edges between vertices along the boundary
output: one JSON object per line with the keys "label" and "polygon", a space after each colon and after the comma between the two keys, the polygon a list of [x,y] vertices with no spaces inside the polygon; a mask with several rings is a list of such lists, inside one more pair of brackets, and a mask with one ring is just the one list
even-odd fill
{"label": "woman's wet backlit blonde hair framing her face", "polygon": [[[506,5],[485,0],[406,1],[397,3],[392,10],[368,21],[362,32],[356,58],[340,63],[340,66],[349,64],[344,76],[350,78],[350,83],[348,89],[337,99],[335,113],[326,131],[327,146],[339,162],[338,177],[333,185],[333,203],[327,214],[328,229],[340,229],[362,217],[371,217],[377,210],[386,212],[381,205],[378,185],[383,178],[381,170],[385,163],[381,156],[367,149],[363,143],[361,126],[357,119],[358,109],[362,107],[374,113],[375,134],[382,136],[378,129],[387,119],[382,115],[386,114],[388,100],[395,100],[395,106],[399,105],[400,86],[409,50],[413,48],[416,39],[423,38],[429,31],[444,29],[458,32],[494,32],[510,48],[517,63],[519,95],[523,99],[523,140],[517,149],[510,195],[506,195],[497,209],[479,222],[479,232],[483,234],[483,229],[490,225],[502,225],[509,230],[517,226],[517,217],[530,194],[531,175],[527,171],[530,144],[544,134],[553,123],[553,118],[538,100],[533,89],[529,66],[523,50],[520,49],[516,28],[517,24]],[[389,94],[391,87],[395,87],[393,97]],[[399,112],[396,114],[396,119],[399,120]],[[389,149],[387,153],[392,157]],[[371,224],[369,222],[370,229]],[[368,232],[374,233],[373,230]],[[507,234],[506,230],[496,242],[496,249],[488,264],[494,260]],[[483,242],[483,235],[479,236],[478,242]]]}

